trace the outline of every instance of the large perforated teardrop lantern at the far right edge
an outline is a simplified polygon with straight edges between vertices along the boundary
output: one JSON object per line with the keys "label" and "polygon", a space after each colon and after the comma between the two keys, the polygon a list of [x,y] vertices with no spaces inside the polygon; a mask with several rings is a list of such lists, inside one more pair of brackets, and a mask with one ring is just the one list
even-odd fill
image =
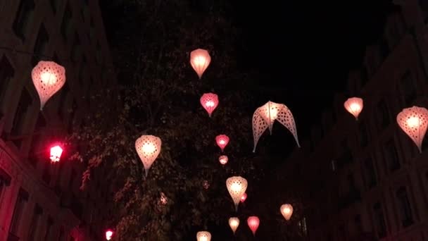
{"label": "large perforated teardrop lantern at the far right edge", "polygon": [[417,149],[422,153],[422,141],[428,126],[428,110],[423,107],[413,106],[403,109],[397,115],[397,123],[410,139],[415,142]]}

